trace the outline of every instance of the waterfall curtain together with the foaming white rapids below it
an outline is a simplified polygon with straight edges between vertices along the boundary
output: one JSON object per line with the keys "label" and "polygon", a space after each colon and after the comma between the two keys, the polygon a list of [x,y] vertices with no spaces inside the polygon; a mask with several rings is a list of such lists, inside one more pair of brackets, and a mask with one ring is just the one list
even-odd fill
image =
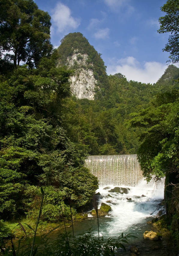
{"label": "waterfall curtain together with the foaming white rapids below it", "polygon": [[[141,226],[146,224],[146,218],[156,215],[159,210],[165,211],[159,205],[164,195],[164,184],[146,183],[137,155],[89,156],[85,166],[99,181],[98,208],[103,202],[112,209],[100,220],[101,235],[115,236],[122,232],[139,235],[141,232],[143,237],[145,230]],[[110,192],[116,186],[129,188],[128,193]],[[90,214],[89,217],[93,218]]]}

